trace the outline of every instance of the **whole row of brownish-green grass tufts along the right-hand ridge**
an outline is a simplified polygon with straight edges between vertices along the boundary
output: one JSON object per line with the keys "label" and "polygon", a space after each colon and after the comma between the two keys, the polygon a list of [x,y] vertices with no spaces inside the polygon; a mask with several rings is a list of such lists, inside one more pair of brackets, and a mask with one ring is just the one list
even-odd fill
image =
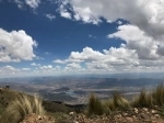
{"label": "whole row of brownish-green grass tufts along the right-hand ridge", "polygon": [[128,100],[118,92],[113,93],[113,98],[108,100],[99,100],[91,94],[86,109],[86,114],[102,115],[112,114],[115,111],[127,111],[132,108],[155,108],[164,107],[164,85],[157,86],[152,92],[141,90],[140,94],[133,100]]}

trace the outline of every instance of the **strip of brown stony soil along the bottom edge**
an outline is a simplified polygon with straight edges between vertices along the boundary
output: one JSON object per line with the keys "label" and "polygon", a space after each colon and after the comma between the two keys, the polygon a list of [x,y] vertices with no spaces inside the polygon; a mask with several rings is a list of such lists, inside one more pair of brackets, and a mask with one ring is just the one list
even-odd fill
{"label": "strip of brown stony soil along the bottom edge", "polygon": [[[84,114],[70,112],[70,119],[65,123],[164,123],[161,116],[162,112],[154,109],[132,109],[124,112],[115,112],[110,115],[86,118]],[[27,115],[21,123],[63,123],[52,120],[51,118],[38,116],[35,114]]]}

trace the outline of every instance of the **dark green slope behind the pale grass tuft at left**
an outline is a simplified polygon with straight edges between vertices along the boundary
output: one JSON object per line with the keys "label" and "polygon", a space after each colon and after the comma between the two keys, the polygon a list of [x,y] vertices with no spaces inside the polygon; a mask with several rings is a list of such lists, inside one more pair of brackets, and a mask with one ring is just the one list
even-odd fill
{"label": "dark green slope behind the pale grass tuft at left", "polygon": [[[15,91],[15,90],[11,90],[7,87],[5,88],[0,88],[0,116],[3,114],[5,109],[8,109],[8,107],[10,107],[10,104],[12,102],[15,102],[15,100],[17,100],[20,98],[20,96],[21,97],[25,96],[25,97],[34,100],[33,96],[30,96],[30,94],[26,94],[26,93],[23,93],[23,92],[19,92],[19,91]],[[43,103],[43,107],[46,111],[46,115],[58,116],[59,120],[65,119],[65,116],[68,118],[67,114],[69,114],[69,112],[74,111],[73,108],[69,108],[69,105],[66,107],[65,104],[60,104],[58,102],[42,100],[42,103]]]}

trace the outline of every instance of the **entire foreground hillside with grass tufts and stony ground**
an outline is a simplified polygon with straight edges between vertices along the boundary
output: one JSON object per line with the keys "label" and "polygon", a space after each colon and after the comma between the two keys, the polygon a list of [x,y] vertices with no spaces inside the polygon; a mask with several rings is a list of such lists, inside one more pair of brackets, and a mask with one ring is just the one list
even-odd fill
{"label": "entire foreground hillside with grass tufts and stony ground", "polygon": [[[120,94],[104,101],[91,94],[84,107],[40,100],[5,87],[0,88],[0,120],[1,123],[164,123],[164,86],[159,86],[151,94],[152,104],[150,94],[144,91],[133,102]],[[155,101],[157,94],[161,102]]]}

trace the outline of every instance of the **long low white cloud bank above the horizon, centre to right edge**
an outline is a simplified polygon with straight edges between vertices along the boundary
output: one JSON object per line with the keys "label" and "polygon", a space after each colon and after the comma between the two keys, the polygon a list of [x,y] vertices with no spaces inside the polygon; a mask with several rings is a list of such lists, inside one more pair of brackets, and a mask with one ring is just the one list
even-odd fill
{"label": "long low white cloud bank above the horizon, centre to right edge", "polygon": [[[148,57],[147,57],[148,58]],[[85,72],[120,72],[120,71],[159,71],[164,68],[164,58],[142,59],[139,57],[136,49],[128,48],[125,44],[121,44],[119,48],[110,47],[104,49],[103,53],[94,51],[91,47],[85,47],[81,53],[72,52],[68,59],[60,62],[73,62],[79,63],[65,63],[68,67],[77,66],[80,63],[84,64],[82,67]],[[70,68],[69,68],[70,69]],[[71,68],[74,70],[74,68]],[[80,69],[80,68],[79,68]]]}

